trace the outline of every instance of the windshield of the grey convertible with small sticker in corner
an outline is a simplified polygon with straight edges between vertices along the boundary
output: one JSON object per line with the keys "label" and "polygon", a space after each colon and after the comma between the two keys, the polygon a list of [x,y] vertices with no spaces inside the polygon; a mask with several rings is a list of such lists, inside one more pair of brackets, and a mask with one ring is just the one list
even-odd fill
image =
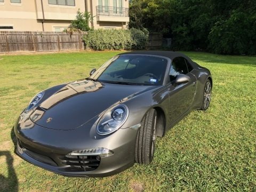
{"label": "windshield of the grey convertible with small sticker in corner", "polygon": [[147,55],[119,55],[107,61],[91,79],[116,84],[162,85],[167,60]]}

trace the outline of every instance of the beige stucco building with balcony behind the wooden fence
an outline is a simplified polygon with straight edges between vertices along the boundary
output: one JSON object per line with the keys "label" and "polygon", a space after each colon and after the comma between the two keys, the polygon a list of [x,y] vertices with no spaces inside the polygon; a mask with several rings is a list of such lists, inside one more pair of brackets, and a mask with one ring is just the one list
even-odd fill
{"label": "beige stucco building with balcony behind the wooden fence", "polygon": [[0,30],[62,31],[80,9],[93,15],[91,28],[126,28],[128,0],[0,0]]}

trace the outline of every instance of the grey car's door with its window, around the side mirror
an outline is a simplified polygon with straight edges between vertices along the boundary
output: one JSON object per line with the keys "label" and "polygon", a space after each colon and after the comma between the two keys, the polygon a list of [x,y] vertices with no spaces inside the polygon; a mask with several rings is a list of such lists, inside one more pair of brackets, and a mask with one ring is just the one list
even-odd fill
{"label": "grey car's door with its window, around the side mirror", "polygon": [[[189,110],[196,92],[196,77],[190,73],[193,68],[188,66],[185,58],[173,59],[169,72],[169,119],[174,122]],[[180,85],[173,85],[179,74],[185,74],[191,81]]]}

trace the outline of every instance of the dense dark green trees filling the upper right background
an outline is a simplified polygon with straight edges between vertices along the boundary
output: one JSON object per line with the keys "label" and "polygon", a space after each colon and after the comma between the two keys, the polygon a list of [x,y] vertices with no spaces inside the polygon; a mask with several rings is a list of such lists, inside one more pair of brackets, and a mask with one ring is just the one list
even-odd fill
{"label": "dense dark green trees filling the upper right background", "polygon": [[255,0],[132,0],[129,27],[172,37],[173,50],[256,54]]}

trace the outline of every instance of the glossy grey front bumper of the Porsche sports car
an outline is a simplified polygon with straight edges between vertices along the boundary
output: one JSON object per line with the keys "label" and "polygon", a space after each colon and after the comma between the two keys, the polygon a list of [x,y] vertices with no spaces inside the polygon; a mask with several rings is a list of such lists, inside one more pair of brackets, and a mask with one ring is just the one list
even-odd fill
{"label": "glossy grey front bumper of the Porsche sports car", "polygon": [[[60,131],[34,124],[29,129],[22,128],[19,123],[14,126],[18,141],[17,155],[54,173],[69,177],[106,177],[134,164],[137,129],[119,129],[107,137],[97,135],[97,138],[93,132],[85,136],[86,127]],[[67,154],[71,151],[97,147],[110,149],[114,154],[108,157],[77,156],[76,161],[68,161],[70,158]],[[71,162],[71,165],[67,162]]]}

